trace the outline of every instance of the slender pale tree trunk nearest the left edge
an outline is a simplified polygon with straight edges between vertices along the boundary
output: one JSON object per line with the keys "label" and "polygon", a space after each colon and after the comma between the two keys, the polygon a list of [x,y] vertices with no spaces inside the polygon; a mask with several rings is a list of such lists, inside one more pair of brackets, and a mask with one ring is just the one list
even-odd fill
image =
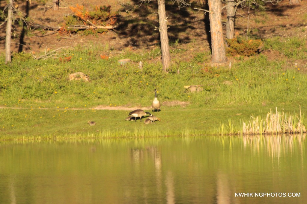
{"label": "slender pale tree trunk nearest the left edge", "polygon": [[10,0],[7,14],[6,37],[5,37],[5,63],[11,62],[11,34],[13,17],[13,0]]}

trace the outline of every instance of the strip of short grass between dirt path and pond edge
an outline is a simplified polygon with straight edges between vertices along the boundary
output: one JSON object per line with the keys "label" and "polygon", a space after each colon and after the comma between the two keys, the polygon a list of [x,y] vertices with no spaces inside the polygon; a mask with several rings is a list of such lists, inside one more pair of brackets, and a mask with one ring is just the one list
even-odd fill
{"label": "strip of short grass between dirt path and pond edge", "polygon": [[[143,138],[163,136],[242,135],[251,115],[265,115],[272,107],[193,108],[164,107],[156,124],[125,121],[130,111],[94,109],[1,109],[0,141]],[[279,108],[299,114],[299,108]],[[307,109],[302,107],[302,114]],[[274,108],[273,108],[274,110]],[[88,120],[96,122],[89,126]]]}

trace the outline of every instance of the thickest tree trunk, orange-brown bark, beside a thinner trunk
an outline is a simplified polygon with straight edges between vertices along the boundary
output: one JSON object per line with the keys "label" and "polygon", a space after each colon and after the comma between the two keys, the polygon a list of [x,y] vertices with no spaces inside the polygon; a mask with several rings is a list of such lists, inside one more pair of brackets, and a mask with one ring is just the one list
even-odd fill
{"label": "thickest tree trunk, orange-brown bark, beside a thinner trunk", "polygon": [[226,51],[223,40],[222,29],[222,1],[221,0],[208,0],[209,5],[209,19],[210,19],[210,32],[212,44],[212,62],[223,63],[226,62]]}

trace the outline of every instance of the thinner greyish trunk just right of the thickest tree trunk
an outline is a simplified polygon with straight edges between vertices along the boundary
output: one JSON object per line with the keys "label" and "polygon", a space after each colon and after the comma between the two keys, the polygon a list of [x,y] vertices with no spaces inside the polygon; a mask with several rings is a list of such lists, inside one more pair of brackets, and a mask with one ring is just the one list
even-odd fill
{"label": "thinner greyish trunk just right of the thickest tree trunk", "polygon": [[235,0],[227,1],[226,16],[226,38],[232,39],[235,35]]}

